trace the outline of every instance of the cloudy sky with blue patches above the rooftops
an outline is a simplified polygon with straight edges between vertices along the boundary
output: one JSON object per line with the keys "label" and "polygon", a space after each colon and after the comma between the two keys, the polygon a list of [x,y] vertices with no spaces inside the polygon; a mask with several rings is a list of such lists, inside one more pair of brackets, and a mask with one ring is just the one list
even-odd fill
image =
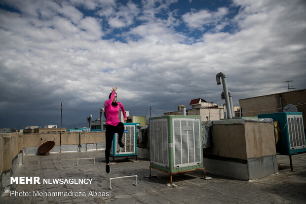
{"label": "cloudy sky with blue patches above the rooftops", "polygon": [[306,88],[305,0],[0,0],[0,128]]}

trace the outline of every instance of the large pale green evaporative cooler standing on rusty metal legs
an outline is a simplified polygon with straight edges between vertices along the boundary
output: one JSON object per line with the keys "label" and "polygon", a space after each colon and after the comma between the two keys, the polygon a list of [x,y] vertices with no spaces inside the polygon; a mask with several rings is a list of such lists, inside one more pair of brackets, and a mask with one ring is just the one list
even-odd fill
{"label": "large pale green evaporative cooler standing on rusty metal legs", "polygon": [[203,167],[200,116],[150,118],[150,165],[169,173]]}

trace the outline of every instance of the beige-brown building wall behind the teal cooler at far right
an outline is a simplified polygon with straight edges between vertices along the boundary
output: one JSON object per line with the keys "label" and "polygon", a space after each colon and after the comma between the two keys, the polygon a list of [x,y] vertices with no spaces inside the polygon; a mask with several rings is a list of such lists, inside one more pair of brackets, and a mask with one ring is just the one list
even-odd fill
{"label": "beige-brown building wall behind the teal cooler at far right", "polygon": [[[298,112],[303,112],[303,121],[305,127],[306,89],[240,99],[239,105],[240,108],[242,108],[243,112],[242,116],[250,117],[250,116],[257,116],[258,114],[282,112],[280,106],[280,97],[282,97],[283,107],[285,107],[288,104],[292,104],[297,107]],[[300,105],[300,104],[305,104],[305,105]]]}

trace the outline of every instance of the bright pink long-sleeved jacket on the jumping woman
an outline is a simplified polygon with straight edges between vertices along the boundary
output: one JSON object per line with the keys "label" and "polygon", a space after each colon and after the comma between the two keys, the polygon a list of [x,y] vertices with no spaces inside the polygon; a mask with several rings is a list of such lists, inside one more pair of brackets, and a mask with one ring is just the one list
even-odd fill
{"label": "bright pink long-sleeved jacket on the jumping woman", "polygon": [[105,115],[106,115],[106,124],[111,124],[116,126],[119,121],[119,108],[122,111],[123,117],[126,118],[124,107],[122,103],[117,102],[117,106],[113,106],[112,102],[115,96],[115,91],[112,92],[111,98],[108,101],[104,102],[105,105]]}

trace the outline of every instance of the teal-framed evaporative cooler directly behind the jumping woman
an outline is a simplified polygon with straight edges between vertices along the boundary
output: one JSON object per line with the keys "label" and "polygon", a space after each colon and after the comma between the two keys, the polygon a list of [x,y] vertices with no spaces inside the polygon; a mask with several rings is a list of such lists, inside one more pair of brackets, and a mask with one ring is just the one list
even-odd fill
{"label": "teal-framed evaporative cooler directly behind the jumping woman", "polygon": [[115,157],[126,157],[126,156],[136,156],[137,160],[137,131],[136,126],[138,123],[123,123],[124,131],[122,135],[123,148],[120,148],[118,144],[118,134],[115,133],[113,139],[113,146],[111,148],[110,157],[113,157],[113,162],[115,162]]}

